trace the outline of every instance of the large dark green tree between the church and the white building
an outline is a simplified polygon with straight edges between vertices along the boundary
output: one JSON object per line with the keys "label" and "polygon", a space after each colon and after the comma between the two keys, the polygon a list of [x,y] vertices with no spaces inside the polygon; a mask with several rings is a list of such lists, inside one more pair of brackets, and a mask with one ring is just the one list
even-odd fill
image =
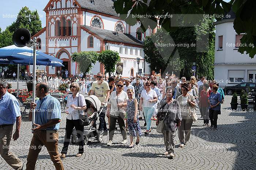
{"label": "large dark green tree between the church and the white building", "polygon": [[[204,19],[195,27],[178,27],[176,31],[167,33],[158,29],[155,34],[144,39],[145,60],[151,71],[165,75],[175,73],[176,76],[192,76],[190,72],[193,62],[196,63],[198,76],[213,79],[215,33],[213,19]],[[207,37],[207,38],[205,38]],[[203,41],[203,39],[205,41]],[[198,52],[200,46],[209,46],[204,52]]]}

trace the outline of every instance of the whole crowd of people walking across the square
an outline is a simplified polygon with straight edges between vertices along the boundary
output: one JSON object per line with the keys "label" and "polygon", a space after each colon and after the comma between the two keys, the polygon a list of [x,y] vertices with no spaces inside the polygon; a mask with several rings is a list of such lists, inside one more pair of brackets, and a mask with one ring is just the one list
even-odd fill
{"label": "whole crowd of people walking across the square", "polygon": [[[203,126],[212,127],[217,130],[218,115],[221,114],[221,103],[224,102],[224,93],[218,87],[218,83],[207,81],[204,76],[197,81],[195,76],[190,80],[185,77],[179,79],[175,75],[167,75],[165,79],[151,76],[136,75],[136,78],[122,78],[111,76],[105,79],[101,72],[98,72],[95,81],[92,76],[76,76],[72,79],[62,77],[37,76],[36,96],[39,98],[35,103],[31,102],[29,119],[32,120],[32,109],[35,109],[35,123],[33,138],[30,143],[27,156],[27,169],[35,169],[37,156],[41,147],[45,146],[49,151],[54,166],[63,170],[61,158],[67,154],[69,141],[73,128],[82,131],[84,127],[79,125],[79,114],[87,108],[84,95],[95,95],[101,102],[102,113],[99,114],[98,131],[108,135],[107,146],[112,146],[114,131],[117,130],[116,122],[119,125],[122,141],[126,144],[127,132],[129,132],[130,143],[127,148],[133,148],[140,142],[140,137],[149,135],[154,130],[151,128],[155,121],[158,129],[163,134],[166,151],[163,155],[174,155],[174,137],[178,131],[179,147],[187,146],[191,134],[191,127],[195,120],[195,110],[200,110],[203,118]],[[58,130],[61,122],[60,102],[49,94],[49,89],[55,89],[61,83],[68,84],[67,91],[71,92],[67,98],[65,140],[61,153],[58,152]],[[5,117],[0,117],[0,137],[7,142],[0,143],[0,153],[5,161],[14,169],[22,169],[23,163],[12,152],[9,152],[7,145],[10,145],[12,127],[16,122],[14,140],[18,139],[21,117],[18,100],[7,92],[7,84],[0,82],[0,104],[6,106],[0,112]],[[81,93],[84,93],[82,95]],[[94,110],[95,111],[95,110]],[[91,112],[94,112],[91,111]],[[108,126],[105,120],[108,119]],[[142,132],[139,121],[144,120],[146,131]],[[210,121],[209,121],[210,120]],[[210,124],[211,123],[211,124]],[[159,132],[159,131],[158,131]],[[155,132],[154,132],[155,133]],[[50,136],[50,137],[49,137]],[[84,154],[83,136],[79,137],[79,150],[76,156]],[[134,138],[136,139],[134,143]],[[5,138],[6,139],[6,138]],[[3,149],[6,148],[6,149]]]}

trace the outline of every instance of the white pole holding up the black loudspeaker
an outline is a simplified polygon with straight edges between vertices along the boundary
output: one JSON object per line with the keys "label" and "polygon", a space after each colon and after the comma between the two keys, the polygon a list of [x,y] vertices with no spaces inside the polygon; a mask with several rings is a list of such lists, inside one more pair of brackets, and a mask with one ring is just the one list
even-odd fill
{"label": "white pole holding up the black loudspeaker", "polygon": [[[37,61],[37,59],[36,59],[36,56],[37,56],[37,54],[36,54],[36,44],[35,44],[35,37],[34,37],[34,39],[33,39],[33,56],[34,56],[34,63],[33,63],[33,102],[35,103],[35,66],[36,66],[36,61]],[[32,129],[34,129],[34,122],[35,122],[35,109],[33,109],[33,111],[32,111]],[[34,131],[32,130],[32,133],[33,133]]]}

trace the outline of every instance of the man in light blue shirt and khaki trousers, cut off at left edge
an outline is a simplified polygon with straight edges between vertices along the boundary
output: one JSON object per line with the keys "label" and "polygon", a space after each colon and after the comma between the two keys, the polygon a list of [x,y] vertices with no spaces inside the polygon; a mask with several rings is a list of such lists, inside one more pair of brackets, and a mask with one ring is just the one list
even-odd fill
{"label": "man in light blue shirt and khaki trousers, cut off at left edge", "polygon": [[10,142],[12,139],[12,128],[16,122],[16,130],[13,139],[19,138],[21,116],[19,101],[14,95],[8,93],[7,84],[0,81],[0,154],[2,158],[13,168],[23,169],[23,163],[12,152]]}

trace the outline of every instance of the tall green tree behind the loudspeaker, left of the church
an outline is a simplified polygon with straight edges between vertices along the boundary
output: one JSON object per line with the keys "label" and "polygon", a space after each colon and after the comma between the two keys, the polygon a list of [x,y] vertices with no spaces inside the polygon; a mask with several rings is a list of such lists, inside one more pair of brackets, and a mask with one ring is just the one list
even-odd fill
{"label": "tall green tree behind the loudspeaker, left of the church", "polygon": [[9,29],[11,32],[14,32],[19,28],[28,29],[31,36],[40,31],[42,29],[42,22],[39,18],[37,10],[30,11],[28,7],[22,7],[18,13],[16,21],[7,27],[7,29]]}

